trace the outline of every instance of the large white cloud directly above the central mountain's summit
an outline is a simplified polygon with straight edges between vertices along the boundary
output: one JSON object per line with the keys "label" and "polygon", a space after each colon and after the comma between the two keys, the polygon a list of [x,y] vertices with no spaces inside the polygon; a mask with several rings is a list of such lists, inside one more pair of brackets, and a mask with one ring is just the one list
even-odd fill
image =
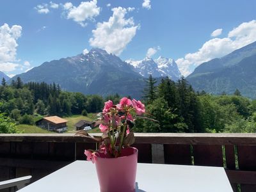
{"label": "large white cloud directly above the central mountain's summit", "polygon": [[113,15],[108,22],[97,23],[97,28],[92,30],[93,38],[89,42],[92,47],[119,55],[136,35],[139,26],[134,25],[132,17],[125,19],[125,8],[113,8],[112,11]]}

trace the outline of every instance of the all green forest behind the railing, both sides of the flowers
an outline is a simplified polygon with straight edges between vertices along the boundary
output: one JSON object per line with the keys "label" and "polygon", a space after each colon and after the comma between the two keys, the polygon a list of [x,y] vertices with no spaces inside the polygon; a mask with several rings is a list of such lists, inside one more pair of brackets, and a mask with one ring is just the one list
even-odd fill
{"label": "all green forest behind the railing, both sides of the flowers", "polygon": [[[256,100],[233,95],[195,92],[183,77],[167,77],[156,86],[150,76],[143,92],[147,116],[137,118],[135,132],[255,132]],[[0,132],[15,132],[15,124],[35,124],[44,115],[86,115],[102,111],[104,101],[120,96],[64,92],[58,84],[22,83],[19,77],[0,86]]]}

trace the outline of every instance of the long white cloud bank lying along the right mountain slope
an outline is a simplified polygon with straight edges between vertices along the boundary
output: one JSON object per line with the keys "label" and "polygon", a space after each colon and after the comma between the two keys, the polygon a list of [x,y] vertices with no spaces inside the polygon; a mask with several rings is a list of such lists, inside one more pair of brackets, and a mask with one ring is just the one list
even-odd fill
{"label": "long white cloud bank lying along the right mountain slope", "polygon": [[198,65],[220,58],[226,54],[256,41],[256,20],[243,22],[232,29],[225,38],[212,38],[202,45],[198,51],[188,53],[184,58],[176,60],[183,76],[188,76]]}

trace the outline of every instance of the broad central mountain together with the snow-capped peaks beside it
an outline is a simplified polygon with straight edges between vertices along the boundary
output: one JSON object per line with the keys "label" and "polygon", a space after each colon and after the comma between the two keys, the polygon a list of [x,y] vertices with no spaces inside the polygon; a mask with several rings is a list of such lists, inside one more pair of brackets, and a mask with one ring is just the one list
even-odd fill
{"label": "broad central mountain together with the snow-capped peaks beside it", "polygon": [[[158,65],[152,59],[147,58],[147,60],[143,63],[145,72],[140,69],[141,73],[139,73],[134,65],[122,61],[118,56],[108,54],[102,49],[92,49],[87,54],[45,62],[12,79],[17,79],[19,76],[24,83],[29,81],[57,83],[63,90],[70,92],[102,96],[118,93],[141,98],[145,77],[148,77],[146,74],[152,72],[154,77],[180,76],[173,60],[159,58],[159,63],[162,63]],[[150,68],[151,65],[154,67]],[[175,70],[171,72],[173,65]]]}

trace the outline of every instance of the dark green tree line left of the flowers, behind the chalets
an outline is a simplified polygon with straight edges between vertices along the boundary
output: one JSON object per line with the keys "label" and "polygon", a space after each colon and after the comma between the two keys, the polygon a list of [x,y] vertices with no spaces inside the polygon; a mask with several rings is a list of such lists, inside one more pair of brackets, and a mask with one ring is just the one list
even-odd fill
{"label": "dark green tree line left of the flowers, behind the chalets", "polygon": [[[117,94],[109,97],[120,98]],[[8,85],[3,78],[0,113],[20,124],[33,124],[31,115],[35,114],[69,116],[97,113],[102,110],[106,99],[99,95],[65,92],[55,83],[22,83],[20,77]]]}

